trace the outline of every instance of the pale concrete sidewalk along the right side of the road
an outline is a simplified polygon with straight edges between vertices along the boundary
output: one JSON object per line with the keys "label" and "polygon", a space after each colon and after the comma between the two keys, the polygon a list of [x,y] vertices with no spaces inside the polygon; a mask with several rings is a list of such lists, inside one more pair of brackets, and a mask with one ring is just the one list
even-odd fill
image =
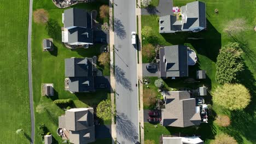
{"label": "pale concrete sidewalk along the right side of the road", "polygon": [[142,75],[142,37],[141,37],[141,0],[138,0],[136,9],[136,15],[138,16],[138,54],[139,54],[139,62],[137,64],[138,70],[138,81],[139,81],[139,123],[141,129],[141,144],[144,144],[144,116],[143,116],[143,75]]}

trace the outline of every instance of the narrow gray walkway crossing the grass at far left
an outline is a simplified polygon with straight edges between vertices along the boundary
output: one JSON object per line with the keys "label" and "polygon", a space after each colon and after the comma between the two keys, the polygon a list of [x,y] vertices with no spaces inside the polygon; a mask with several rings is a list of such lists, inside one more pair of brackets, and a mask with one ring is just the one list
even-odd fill
{"label": "narrow gray walkway crossing the grass at far left", "polygon": [[32,62],[31,62],[31,33],[32,33],[32,13],[33,0],[30,0],[30,10],[28,15],[28,34],[27,34],[27,64],[28,64],[28,88],[30,92],[30,121],[31,121],[31,141],[34,143],[34,105],[33,105],[33,86],[32,86]]}

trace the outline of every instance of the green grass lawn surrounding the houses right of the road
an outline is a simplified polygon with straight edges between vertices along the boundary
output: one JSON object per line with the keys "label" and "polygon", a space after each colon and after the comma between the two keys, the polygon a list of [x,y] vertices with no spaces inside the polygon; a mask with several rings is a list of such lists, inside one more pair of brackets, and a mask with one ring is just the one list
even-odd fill
{"label": "green grass lawn surrounding the houses right of the road", "polygon": [[[188,2],[193,2],[193,0],[174,0],[174,6],[185,5]],[[256,7],[255,1],[243,1],[237,0],[236,2],[232,0],[228,1],[216,1],[207,0],[206,2],[206,16],[207,16],[207,30],[199,33],[186,33],[180,32],[177,34],[159,34],[159,25],[157,16],[142,16],[142,28],[143,26],[150,26],[153,28],[155,37],[149,40],[144,40],[143,45],[160,44],[160,45],[177,45],[184,44],[189,46],[191,49],[195,50],[199,61],[194,66],[189,66],[189,77],[194,77],[197,69],[206,70],[207,77],[206,80],[202,80],[197,83],[185,83],[186,78],[178,80],[165,80],[168,87],[181,88],[197,88],[200,85],[206,85],[210,90],[218,85],[215,80],[215,63],[218,56],[218,52],[221,46],[224,46],[232,41],[237,41],[242,44],[242,49],[244,51],[243,58],[245,59],[245,71],[241,74],[240,82],[245,85],[252,95],[252,102],[243,111],[228,111],[224,110],[222,107],[213,104],[213,113],[225,114],[231,118],[231,125],[228,128],[219,128],[216,124],[210,121],[208,124],[201,124],[198,130],[193,130],[192,128],[165,128],[159,126],[154,128],[154,125],[146,123],[145,129],[145,139],[152,139],[158,143],[159,136],[161,134],[174,134],[181,132],[187,135],[196,134],[201,135],[202,140],[209,143],[210,140],[214,139],[214,135],[224,132],[227,133],[237,140],[238,143],[256,143],[256,135],[254,129],[256,129],[256,101],[255,101],[255,77],[256,77],[256,67],[255,67],[255,54],[256,54],[256,33],[253,31],[253,27],[256,25]],[[219,14],[214,13],[214,9],[219,10]],[[248,13],[250,10],[250,13]],[[236,39],[228,37],[227,34],[223,32],[223,27],[225,23],[229,20],[235,18],[244,18],[247,21],[250,29],[241,35],[236,36]],[[193,38],[203,38],[200,40],[191,40],[189,37]],[[150,78],[151,79],[151,78]],[[207,96],[209,103],[211,103],[211,94]],[[154,129],[154,130],[153,130]],[[191,130],[192,129],[192,130]]]}

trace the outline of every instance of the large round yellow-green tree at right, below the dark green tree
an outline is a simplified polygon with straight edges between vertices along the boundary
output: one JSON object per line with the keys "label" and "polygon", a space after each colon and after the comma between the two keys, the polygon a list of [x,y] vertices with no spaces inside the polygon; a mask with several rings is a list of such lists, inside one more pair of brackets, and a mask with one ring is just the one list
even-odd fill
{"label": "large round yellow-green tree at right, below the dark green tree", "polygon": [[213,102],[229,110],[242,110],[251,101],[248,89],[241,84],[218,86],[213,92]]}

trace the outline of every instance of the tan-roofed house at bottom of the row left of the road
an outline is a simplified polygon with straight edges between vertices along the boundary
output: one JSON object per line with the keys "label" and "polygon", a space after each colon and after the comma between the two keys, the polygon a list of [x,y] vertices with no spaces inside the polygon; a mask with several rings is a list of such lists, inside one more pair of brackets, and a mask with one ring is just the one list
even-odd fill
{"label": "tan-roofed house at bottom of the row left of the road", "polygon": [[65,111],[65,115],[59,117],[57,134],[74,144],[94,142],[94,109],[90,107]]}

